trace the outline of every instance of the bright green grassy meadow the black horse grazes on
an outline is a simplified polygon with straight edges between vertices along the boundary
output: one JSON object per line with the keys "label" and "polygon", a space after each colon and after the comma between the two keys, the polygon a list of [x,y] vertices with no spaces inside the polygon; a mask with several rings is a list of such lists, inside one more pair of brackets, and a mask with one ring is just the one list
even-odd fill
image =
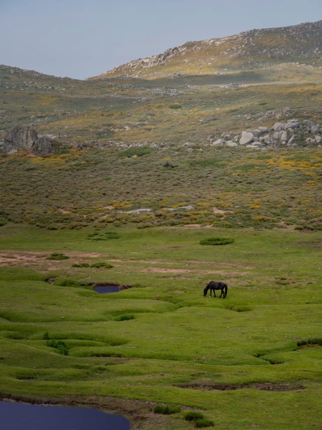
{"label": "bright green grassy meadow the black horse grazes on", "polygon": [[[195,428],[189,411],[221,429],[320,427],[320,231],[97,228],[0,227],[2,398],[95,406],[151,430]],[[212,237],[234,241],[199,243]],[[87,267],[102,262],[113,267]],[[210,280],[225,299],[203,296]]]}

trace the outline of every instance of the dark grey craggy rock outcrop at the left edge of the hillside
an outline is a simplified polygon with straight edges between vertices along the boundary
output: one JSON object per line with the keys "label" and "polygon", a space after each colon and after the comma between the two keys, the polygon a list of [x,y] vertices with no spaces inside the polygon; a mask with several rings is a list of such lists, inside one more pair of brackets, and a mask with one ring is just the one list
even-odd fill
{"label": "dark grey craggy rock outcrop at the left edge of the hillside", "polygon": [[19,124],[6,131],[4,142],[0,142],[0,152],[14,154],[21,149],[36,155],[50,154],[52,151],[51,139],[48,136],[38,137],[34,128]]}

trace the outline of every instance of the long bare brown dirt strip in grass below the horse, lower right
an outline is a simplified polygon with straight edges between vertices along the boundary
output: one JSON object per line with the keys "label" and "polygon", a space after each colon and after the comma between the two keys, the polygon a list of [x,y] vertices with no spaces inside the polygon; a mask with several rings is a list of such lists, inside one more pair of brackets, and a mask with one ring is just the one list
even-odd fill
{"label": "long bare brown dirt strip in grass below the horse, lower right", "polygon": [[209,384],[207,382],[196,382],[188,384],[174,384],[175,387],[180,388],[192,388],[195,390],[203,391],[230,391],[230,390],[241,390],[243,388],[253,388],[255,390],[262,391],[293,391],[293,390],[304,390],[301,384],[297,382],[257,382],[253,384],[236,385],[236,384]]}

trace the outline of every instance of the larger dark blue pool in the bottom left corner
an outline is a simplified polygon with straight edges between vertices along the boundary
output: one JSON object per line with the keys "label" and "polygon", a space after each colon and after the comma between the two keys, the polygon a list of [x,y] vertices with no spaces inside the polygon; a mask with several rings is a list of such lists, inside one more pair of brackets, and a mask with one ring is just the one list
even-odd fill
{"label": "larger dark blue pool in the bottom left corner", "polygon": [[2,430],[129,430],[129,421],[97,409],[1,402]]}

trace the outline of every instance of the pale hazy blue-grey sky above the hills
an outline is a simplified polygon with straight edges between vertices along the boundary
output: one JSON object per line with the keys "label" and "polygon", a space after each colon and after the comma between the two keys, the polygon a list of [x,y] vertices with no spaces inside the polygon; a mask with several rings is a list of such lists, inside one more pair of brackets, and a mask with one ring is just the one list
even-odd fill
{"label": "pale hazy blue-grey sky above the hills", "polygon": [[0,0],[0,64],[85,79],[190,40],[322,19],[321,0]]}

